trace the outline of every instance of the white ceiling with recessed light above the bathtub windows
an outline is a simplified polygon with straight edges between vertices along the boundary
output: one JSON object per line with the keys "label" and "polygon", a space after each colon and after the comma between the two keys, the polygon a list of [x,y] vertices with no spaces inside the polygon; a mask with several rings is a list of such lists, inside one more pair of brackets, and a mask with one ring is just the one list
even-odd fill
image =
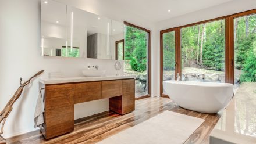
{"label": "white ceiling with recessed light above the bathtub windows", "polygon": [[234,0],[111,0],[110,2],[144,19],[158,22],[229,1]]}

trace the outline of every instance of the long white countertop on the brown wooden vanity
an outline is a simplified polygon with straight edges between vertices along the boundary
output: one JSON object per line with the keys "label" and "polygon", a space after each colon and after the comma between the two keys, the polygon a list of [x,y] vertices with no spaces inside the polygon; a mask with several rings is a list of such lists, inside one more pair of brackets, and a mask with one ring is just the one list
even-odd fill
{"label": "long white countertop on the brown wooden vanity", "polygon": [[63,84],[72,82],[86,82],[86,81],[106,81],[106,80],[120,80],[127,78],[135,78],[135,76],[105,76],[105,77],[65,77],[65,78],[40,78],[39,82],[42,84]]}

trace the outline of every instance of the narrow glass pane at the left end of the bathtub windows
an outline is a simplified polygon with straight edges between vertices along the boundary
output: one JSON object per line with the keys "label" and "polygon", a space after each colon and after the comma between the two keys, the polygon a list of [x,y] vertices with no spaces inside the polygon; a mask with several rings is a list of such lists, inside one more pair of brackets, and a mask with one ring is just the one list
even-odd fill
{"label": "narrow glass pane at the left end of the bathtub windows", "polygon": [[[162,34],[162,81],[175,80],[175,35],[175,31]],[[165,89],[162,90],[162,93],[165,94]]]}

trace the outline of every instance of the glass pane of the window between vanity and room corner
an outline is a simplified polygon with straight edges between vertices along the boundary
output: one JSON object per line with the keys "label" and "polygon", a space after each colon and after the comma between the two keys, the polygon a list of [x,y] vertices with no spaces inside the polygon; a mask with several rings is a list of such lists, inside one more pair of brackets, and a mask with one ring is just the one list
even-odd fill
{"label": "glass pane of the window between vanity and room corner", "polygon": [[140,28],[125,25],[125,75],[136,76],[136,98],[149,95],[149,37]]}

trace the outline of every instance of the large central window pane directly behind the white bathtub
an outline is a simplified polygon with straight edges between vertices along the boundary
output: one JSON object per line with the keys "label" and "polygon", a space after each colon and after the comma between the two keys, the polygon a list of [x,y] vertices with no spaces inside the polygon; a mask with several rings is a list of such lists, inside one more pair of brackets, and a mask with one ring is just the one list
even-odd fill
{"label": "large central window pane directly behind the white bathtub", "polygon": [[225,82],[225,19],[181,28],[182,80]]}

